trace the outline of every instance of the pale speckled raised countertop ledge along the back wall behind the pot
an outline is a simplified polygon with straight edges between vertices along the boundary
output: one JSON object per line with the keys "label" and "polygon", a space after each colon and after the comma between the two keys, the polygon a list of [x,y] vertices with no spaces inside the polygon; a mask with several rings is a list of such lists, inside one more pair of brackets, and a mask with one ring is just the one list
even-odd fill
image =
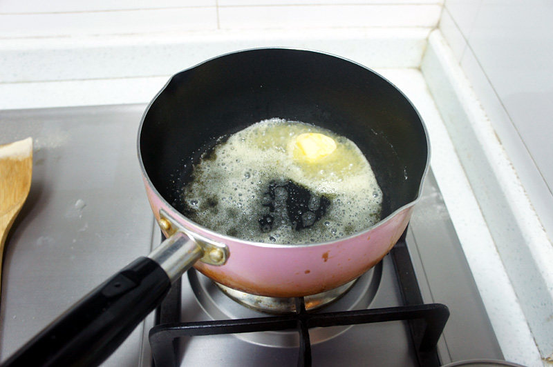
{"label": "pale speckled raised countertop ledge along the back wall behind the pot", "polygon": [[[97,37],[5,39],[0,41],[0,87],[38,81],[168,78],[221,53],[274,46],[330,52],[371,68],[417,68],[428,34],[424,28],[317,28],[257,30],[255,34],[213,30],[185,36],[118,36],[109,41]],[[0,93],[0,108],[15,108],[10,103],[14,103],[12,97]]]}

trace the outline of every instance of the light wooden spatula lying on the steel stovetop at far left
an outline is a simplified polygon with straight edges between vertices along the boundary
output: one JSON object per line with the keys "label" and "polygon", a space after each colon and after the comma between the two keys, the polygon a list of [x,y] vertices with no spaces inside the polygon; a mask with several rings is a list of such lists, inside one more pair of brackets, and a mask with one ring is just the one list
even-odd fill
{"label": "light wooden spatula lying on the steel stovetop at far left", "polygon": [[32,138],[0,146],[0,285],[4,243],[30,189]]}

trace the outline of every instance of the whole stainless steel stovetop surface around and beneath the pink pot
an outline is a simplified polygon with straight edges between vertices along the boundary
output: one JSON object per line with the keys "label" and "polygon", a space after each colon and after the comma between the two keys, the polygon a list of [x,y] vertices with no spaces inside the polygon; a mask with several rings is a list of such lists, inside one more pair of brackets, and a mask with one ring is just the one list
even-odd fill
{"label": "whole stainless steel stovetop surface around and beneath the pink pot", "polygon": [[[0,143],[35,139],[31,192],[6,244],[1,360],[88,290],[160,243],[135,152],[144,108],[0,111]],[[450,311],[438,342],[440,362],[502,359],[431,172],[405,244],[422,301],[445,304]],[[180,295],[172,294],[180,299],[181,321],[268,316],[230,301],[201,275],[185,275],[176,287]],[[328,310],[403,304],[388,255]],[[165,304],[162,318],[171,313],[171,304]],[[151,366],[147,335],[155,319],[147,317],[104,366]],[[406,321],[312,329],[310,339],[313,366],[418,366]],[[179,344],[179,363],[187,366],[294,366],[299,351],[294,331],[183,337]]]}

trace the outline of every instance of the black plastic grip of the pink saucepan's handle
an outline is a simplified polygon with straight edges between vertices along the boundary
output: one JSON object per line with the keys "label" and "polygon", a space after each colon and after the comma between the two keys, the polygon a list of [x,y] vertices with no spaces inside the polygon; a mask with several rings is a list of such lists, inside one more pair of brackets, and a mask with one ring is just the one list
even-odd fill
{"label": "black plastic grip of the pink saucepan's handle", "polygon": [[147,257],[95,288],[31,339],[7,366],[97,366],[167,294],[171,282]]}

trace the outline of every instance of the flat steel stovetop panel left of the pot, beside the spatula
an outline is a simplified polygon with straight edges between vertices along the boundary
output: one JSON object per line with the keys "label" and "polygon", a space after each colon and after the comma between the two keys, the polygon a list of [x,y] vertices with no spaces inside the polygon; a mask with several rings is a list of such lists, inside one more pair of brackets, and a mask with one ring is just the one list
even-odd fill
{"label": "flat steel stovetop panel left of the pot, beside the spatula", "polygon": [[[4,257],[2,359],[150,252],[153,216],[135,152],[142,110],[144,105],[0,111],[0,143],[33,137],[30,193]],[[138,327],[106,363],[137,366],[141,341]]]}

